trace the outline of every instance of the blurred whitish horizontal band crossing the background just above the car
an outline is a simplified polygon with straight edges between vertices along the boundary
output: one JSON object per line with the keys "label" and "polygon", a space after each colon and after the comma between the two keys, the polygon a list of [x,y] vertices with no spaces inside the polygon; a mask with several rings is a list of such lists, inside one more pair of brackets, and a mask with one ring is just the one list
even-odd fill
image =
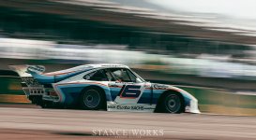
{"label": "blurred whitish horizontal band crossing the background just above the car", "polygon": [[[39,46],[39,47],[38,47]],[[256,66],[232,63],[231,56],[201,54],[196,58],[178,58],[175,55],[149,54],[128,50],[127,46],[58,45],[53,41],[0,38],[1,58],[31,60],[75,60],[91,63],[124,63],[136,68],[173,74],[202,77],[256,78]],[[86,56],[86,58],[84,58]],[[132,57],[130,57],[132,56]],[[162,67],[149,67],[144,63],[159,63]]]}

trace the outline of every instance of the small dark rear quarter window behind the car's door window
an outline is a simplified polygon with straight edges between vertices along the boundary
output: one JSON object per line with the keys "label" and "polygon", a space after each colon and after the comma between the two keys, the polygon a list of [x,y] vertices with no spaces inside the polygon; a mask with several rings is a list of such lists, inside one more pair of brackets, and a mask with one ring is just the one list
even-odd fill
{"label": "small dark rear quarter window behind the car's door window", "polygon": [[108,77],[105,75],[103,70],[98,70],[95,72],[92,72],[90,74],[87,74],[83,77],[87,80],[98,80],[98,81],[108,81]]}

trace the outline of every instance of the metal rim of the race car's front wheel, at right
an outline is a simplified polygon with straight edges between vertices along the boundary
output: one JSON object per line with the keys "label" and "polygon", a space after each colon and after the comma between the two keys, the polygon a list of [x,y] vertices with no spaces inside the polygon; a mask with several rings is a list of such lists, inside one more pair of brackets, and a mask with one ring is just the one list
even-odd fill
{"label": "metal rim of the race car's front wheel, at right", "polygon": [[166,109],[171,113],[176,113],[180,110],[181,102],[178,95],[171,94],[165,100]]}

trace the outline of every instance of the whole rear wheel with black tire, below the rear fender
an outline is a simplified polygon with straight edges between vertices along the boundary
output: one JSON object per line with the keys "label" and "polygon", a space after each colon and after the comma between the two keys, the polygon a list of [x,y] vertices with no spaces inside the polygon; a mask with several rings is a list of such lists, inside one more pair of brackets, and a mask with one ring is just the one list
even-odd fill
{"label": "whole rear wheel with black tire, below the rear fender", "polygon": [[86,110],[99,110],[104,109],[104,96],[103,91],[98,88],[92,87],[83,90],[80,96],[80,105],[82,109]]}

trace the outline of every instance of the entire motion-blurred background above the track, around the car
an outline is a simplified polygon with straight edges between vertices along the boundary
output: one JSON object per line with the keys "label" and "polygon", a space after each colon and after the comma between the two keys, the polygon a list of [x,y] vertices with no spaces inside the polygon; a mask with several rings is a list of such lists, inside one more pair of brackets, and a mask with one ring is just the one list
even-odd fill
{"label": "entire motion-blurred background above the track, around the car", "polygon": [[0,102],[29,104],[9,64],[51,72],[122,63],[191,92],[203,112],[256,116],[254,7],[253,0],[0,0]]}

